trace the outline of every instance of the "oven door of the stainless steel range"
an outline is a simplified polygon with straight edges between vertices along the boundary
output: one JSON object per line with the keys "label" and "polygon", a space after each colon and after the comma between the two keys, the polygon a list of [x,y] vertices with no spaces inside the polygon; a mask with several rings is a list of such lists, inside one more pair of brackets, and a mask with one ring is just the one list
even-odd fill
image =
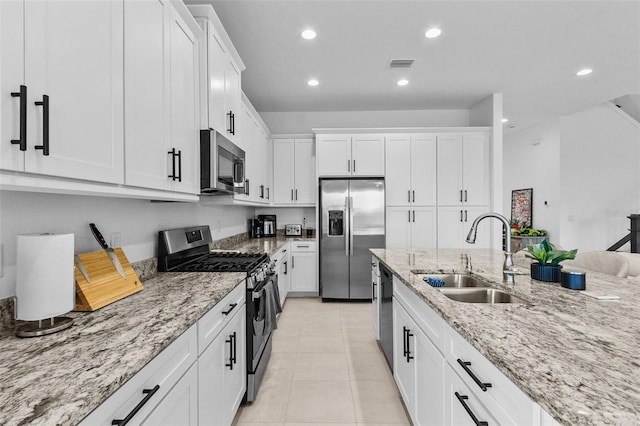
{"label": "oven door of the stainless steel range", "polygon": [[[258,368],[264,348],[275,329],[275,312],[270,299],[274,297],[274,289],[278,285],[276,280],[276,274],[267,274],[263,281],[247,291],[247,366],[250,372]],[[272,285],[268,286],[269,283]]]}

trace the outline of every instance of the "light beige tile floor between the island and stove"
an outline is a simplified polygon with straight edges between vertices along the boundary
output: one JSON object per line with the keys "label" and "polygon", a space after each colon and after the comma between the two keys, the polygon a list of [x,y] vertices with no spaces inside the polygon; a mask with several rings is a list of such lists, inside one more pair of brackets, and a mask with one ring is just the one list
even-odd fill
{"label": "light beige tile floor between the island and stove", "polygon": [[410,424],[371,326],[370,303],[289,298],[247,425]]}

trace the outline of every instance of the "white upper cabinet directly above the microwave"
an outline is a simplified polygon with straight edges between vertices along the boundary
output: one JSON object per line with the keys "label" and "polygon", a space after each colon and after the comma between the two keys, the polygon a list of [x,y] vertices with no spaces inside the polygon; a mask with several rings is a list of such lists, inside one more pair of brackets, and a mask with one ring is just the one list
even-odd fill
{"label": "white upper cabinet directly above the microwave", "polygon": [[[241,73],[245,66],[233,47],[220,19],[210,5],[190,5],[189,11],[204,31],[200,49],[200,86],[204,96],[201,126],[238,143],[242,120]],[[206,65],[205,65],[206,64]]]}

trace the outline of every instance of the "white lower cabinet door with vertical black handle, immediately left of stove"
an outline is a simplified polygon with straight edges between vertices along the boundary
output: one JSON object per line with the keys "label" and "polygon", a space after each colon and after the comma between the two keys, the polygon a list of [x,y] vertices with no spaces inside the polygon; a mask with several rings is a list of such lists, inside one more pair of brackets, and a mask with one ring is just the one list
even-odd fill
{"label": "white lower cabinet door with vertical black handle, immediately left of stove", "polygon": [[198,358],[198,423],[230,425],[246,390],[245,305]]}

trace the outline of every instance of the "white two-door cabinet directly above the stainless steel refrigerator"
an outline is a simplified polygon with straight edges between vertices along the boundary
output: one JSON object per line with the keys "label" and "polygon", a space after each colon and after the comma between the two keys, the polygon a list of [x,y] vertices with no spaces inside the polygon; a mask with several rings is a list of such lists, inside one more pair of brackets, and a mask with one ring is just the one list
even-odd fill
{"label": "white two-door cabinet directly above the stainless steel refrigerator", "polygon": [[317,135],[318,175],[384,176],[384,135]]}

